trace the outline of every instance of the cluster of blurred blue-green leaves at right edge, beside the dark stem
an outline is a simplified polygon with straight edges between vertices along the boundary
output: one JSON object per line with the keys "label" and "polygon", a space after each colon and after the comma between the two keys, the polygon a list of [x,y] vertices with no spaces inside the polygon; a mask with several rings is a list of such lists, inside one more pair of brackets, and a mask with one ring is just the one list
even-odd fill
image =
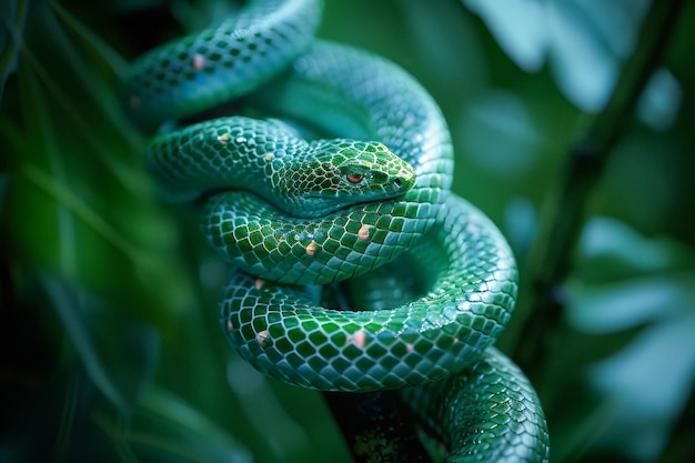
{"label": "cluster of blurred blue-green leaves at right edge, beside the dark stem", "polygon": [[581,250],[566,284],[568,324],[594,335],[634,331],[587,369],[598,406],[611,404],[595,446],[655,461],[695,386],[693,252],[608,219],[588,224]]}

